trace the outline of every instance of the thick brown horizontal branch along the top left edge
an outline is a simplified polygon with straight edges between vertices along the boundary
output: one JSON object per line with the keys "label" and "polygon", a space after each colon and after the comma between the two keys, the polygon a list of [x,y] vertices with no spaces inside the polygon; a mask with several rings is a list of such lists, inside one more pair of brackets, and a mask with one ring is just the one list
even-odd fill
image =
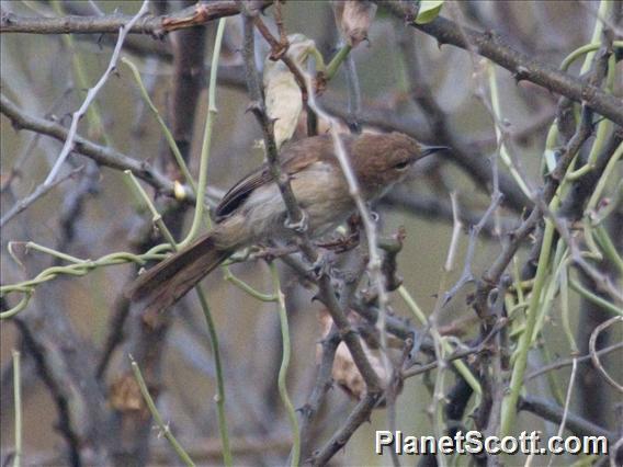
{"label": "thick brown horizontal branch along the top left edge", "polygon": [[[253,2],[253,10],[263,10],[272,3],[272,0]],[[213,1],[197,3],[184,8],[172,14],[143,16],[134,24],[128,33],[150,34],[161,37],[165,34],[181,29],[199,26],[224,16],[233,16],[240,13],[240,4],[237,1]],[[0,10],[1,33],[29,33],[29,34],[102,34],[117,33],[133,19],[129,14],[107,14],[103,16],[77,16],[61,18],[27,18]]]}

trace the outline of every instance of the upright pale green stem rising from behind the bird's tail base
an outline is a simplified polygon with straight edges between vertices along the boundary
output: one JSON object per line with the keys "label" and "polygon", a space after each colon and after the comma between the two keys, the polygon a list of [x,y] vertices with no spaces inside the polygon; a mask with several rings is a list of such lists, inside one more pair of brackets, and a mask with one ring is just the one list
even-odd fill
{"label": "upright pale green stem rising from behind the bird's tail base", "polygon": [[218,20],[216,30],[216,38],[214,39],[214,53],[212,54],[212,67],[209,69],[209,86],[207,90],[207,116],[205,118],[205,128],[203,134],[203,145],[201,148],[201,160],[199,169],[199,184],[196,191],[196,207],[193,217],[193,224],[186,238],[180,243],[180,247],[189,246],[199,234],[203,218],[203,207],[205,198],[205,189],[207,186],[207,162],[209,160],[209,145],[212,143],[212,128],[214,126],[214,117],[218,112],[216,110],[216,75],[218,70],[218,57],[220,56],[220,45],[223,44],[223,33],[225,32],[225,18]]}

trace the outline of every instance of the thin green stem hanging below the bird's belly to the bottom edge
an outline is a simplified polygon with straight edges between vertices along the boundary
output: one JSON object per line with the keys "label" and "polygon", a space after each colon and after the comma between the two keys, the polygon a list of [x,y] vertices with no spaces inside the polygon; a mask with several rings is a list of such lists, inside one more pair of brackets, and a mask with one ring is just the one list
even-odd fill
{"label": "thin green stem hanging below the bird's belly to the bottom edge", "polygon": [[279,272],[276,270],[275,263],[271,263],[271,276],[273,280],[274,295],[277,297],[277,311],[279,319],[281,322],[281,338],[283,341],[283,356],[281,358],[281,367],[279,368],[279,395],[283,405],[285,406],[285,411],[287,413],[287,420],[290,422],[290,428],[292,430],[292,454],[291,454],[291,465],[293,467],[298,466],[301,459],[301,434],[298,432],[298,419],[296,418],[296,410],[287,395],[287,386],[285,378],[287,376],[287,367],[290,365],[291,345],[290,345],[290,329],[287,326],[287,311],[285,309],[285,300],[283,293],[281,292],[281,286],[279,283]]}

